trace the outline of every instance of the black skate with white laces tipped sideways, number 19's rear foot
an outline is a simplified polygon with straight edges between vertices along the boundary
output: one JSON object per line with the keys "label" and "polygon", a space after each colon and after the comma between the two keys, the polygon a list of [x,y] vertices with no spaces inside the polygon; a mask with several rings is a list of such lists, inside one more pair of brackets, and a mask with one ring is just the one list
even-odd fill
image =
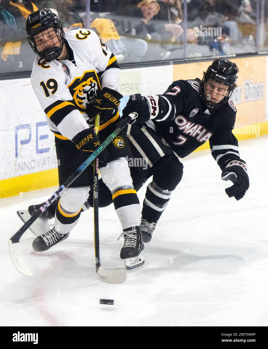
{"label": "black skate with white laces tipped sideways, number 19's rear foot", "polygon": [[32,243],[32,248],[36,252],[43,252],[49,250],[50,247],[58,244],[60,241],[65,240],[69,236],[67,234],[61,234],[55,230],[53,227],[51,230],[47,231],[45,234],[38,236]]}

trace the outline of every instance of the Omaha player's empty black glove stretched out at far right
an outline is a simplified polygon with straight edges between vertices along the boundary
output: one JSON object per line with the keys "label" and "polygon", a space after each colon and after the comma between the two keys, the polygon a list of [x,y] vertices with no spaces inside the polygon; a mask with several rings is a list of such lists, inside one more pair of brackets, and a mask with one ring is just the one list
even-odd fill
{"label": "Omaha player's empty black glove stretched out at far right", "polygon": [[231,198],[240,200],[246,194],[250,186],[250,180],[247,175],[247,165],[244,162],[233,160],[222,171],[223,180],[231,180],[233,185],[225,189],[226,194]]}

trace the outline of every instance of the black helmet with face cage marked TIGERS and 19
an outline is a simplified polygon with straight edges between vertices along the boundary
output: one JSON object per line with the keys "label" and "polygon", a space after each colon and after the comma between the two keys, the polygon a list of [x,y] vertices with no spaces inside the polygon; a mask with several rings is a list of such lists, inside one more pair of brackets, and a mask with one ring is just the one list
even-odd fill
{"label": "black helmet with face cage marked TIGERS and 19", "polygon": [[[53,37],[50,35],[50,37],[46,36],[45,38],[44,35],[50,32],[49,28],[53,28],[54,30]],[[61,55],[64,45],[64,31],[58,16],[51,12],[51,10],[41,8],[40,10],[30,13],[26,22],[26,32],[31,48],[41,58],[52,61]],[[37,45],[34,36],[41,32],[43,32],[43,34],[38,36],[38,38],[43,37],[43,39],[41,39],[42,43],[40,41],[40,44]],[[42,44],[44,45],[45,42],[49,41],[50,45],[44,50],[38,49],[38,46],[42,47]]]}

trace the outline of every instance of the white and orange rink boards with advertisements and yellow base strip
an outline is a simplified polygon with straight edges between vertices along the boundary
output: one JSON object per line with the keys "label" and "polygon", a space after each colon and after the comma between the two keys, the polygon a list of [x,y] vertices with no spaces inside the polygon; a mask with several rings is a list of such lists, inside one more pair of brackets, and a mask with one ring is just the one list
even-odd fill
{"label": "white and orange rink boards with advertisements and yellow base strip", "polygon": [[[232,96],[237,106],[234,134],[238,140],[257,138],[268,133],[268,59],[237,58],[236,63],[239,87]],[[201,78],[208,64],[207,61],[121,70],[119,91],[124,97],[120,109],[131,94],[161,94],[174,80]],[[262,69],[258,69],[260,66]],[[47,127],[30,79],[2,80],[0,88],[3,111],[0,141],[1,149],[5,149],[1,152],[0,198],[58,185],[54,135]],[[197,151],[208,148],[206,142]]]}

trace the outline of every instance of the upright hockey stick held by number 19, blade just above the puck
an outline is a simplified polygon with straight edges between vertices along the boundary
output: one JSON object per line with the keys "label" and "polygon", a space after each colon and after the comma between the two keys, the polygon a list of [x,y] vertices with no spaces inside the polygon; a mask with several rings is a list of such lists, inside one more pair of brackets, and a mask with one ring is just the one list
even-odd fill
{"label": "upright hockey stick held by number 19, blade just above the puck", "polygon": [[[99,132],[100,114],[95,117],[95,133]],[[126,280],[127,273],[124,269],[105,270],[101,266],[99,257],[99,159],[94,160],[93,174],[93,210],[94,210],[94,247],[96,273],[102,282],[122,283]]]}

